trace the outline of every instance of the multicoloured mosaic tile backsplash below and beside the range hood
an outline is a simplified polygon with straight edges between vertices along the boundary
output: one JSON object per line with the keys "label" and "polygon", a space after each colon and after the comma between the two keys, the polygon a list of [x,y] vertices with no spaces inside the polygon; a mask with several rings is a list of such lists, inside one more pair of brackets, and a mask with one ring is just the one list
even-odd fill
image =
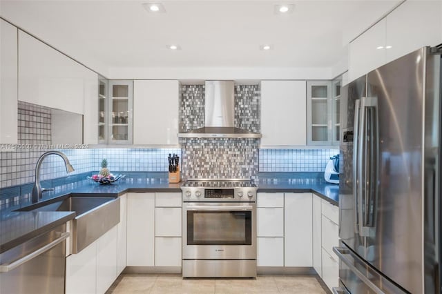
{"label": "multicoloured mosaic tile backsplash below and beside the range hood", "polygon": [[[260,132],[260,86],[235,86],[235,126]],[[204,126],[204,86],[182,86],[180,130]],[[258,175],[259,139],[180,139],[184,179],[250,179]]]}

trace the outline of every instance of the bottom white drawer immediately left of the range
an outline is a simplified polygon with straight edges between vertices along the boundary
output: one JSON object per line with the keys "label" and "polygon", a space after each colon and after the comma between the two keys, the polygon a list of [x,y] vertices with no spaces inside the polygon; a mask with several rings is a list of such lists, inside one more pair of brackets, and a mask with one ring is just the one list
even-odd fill
{"label": "bottom white drawer immediately left of the range", "polygon": [[155,237],[155,266],[181,266],[181,237]]}

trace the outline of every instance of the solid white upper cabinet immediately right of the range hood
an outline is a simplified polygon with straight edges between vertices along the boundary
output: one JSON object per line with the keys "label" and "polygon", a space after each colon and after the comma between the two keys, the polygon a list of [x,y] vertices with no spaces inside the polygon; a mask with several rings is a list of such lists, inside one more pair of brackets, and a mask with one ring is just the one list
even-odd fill
{"label": "solid white upper cabinet immediately right of the range hood", "polygon": [[261,146],[306,144],[305,81],[261,81]]}

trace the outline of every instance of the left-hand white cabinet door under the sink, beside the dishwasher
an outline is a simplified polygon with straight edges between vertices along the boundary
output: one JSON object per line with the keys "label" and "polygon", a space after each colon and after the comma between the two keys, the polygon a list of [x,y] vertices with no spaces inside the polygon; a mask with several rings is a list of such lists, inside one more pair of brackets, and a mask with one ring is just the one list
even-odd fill
{"label": "left-hand white cabinet door under the sink, beside the dishwasher", "polygon": [[98,240],[66,257],[66,294],[95,294]]}

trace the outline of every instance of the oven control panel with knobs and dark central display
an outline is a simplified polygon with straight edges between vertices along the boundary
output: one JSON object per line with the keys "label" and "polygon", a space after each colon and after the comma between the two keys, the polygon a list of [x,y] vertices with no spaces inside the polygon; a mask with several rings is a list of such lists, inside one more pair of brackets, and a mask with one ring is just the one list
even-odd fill
{"label": "oven control panel with knobs and dark central display", "polygon": [[256,187],[181,187],[183,202],[256,202]]}

